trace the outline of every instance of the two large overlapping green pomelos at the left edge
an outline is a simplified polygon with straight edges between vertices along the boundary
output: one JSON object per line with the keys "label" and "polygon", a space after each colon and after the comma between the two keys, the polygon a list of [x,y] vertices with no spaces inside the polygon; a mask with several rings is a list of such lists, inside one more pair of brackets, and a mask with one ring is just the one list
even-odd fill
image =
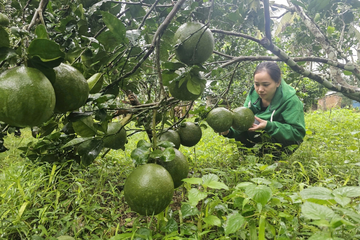
{"label": "two large overlapping green pomelos at the left edge", "polygon": [[44,123],[53,112],[74,111],[89,97],[86,79],[74,67],[54,68],[55,81],[36,68],[19,66],[0,74],[0,120],[18,127]]}

